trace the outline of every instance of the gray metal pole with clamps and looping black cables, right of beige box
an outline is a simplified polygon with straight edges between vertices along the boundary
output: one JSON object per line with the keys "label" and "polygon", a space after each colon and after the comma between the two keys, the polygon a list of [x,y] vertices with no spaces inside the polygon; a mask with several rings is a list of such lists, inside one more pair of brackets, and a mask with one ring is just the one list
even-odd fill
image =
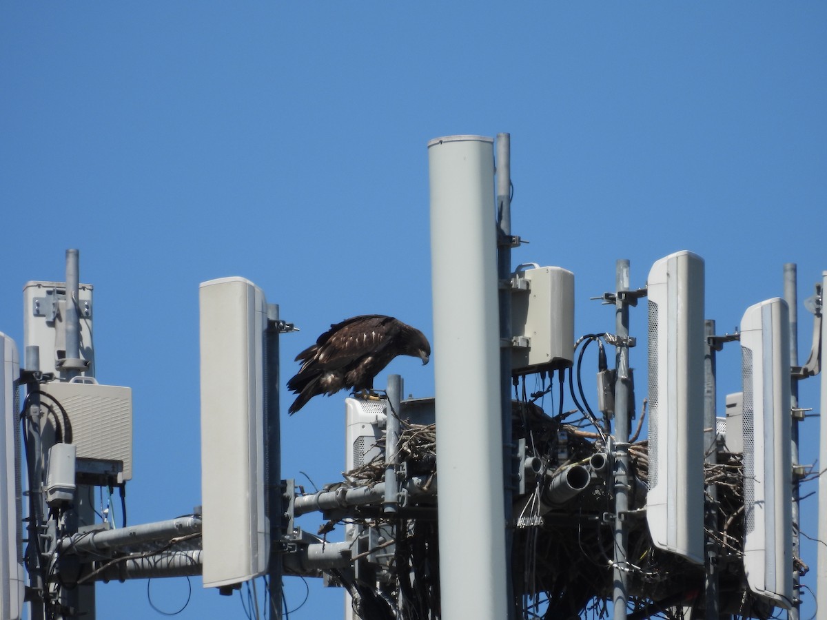
{"label": "gray metal pole with clamps and looping black cables, right of beige box", "polygon": [[616,265],[614,329],[618,337],[614,384],[614,620],[626,618],[629,601],[629,570],[627,566],[627,538],[624,517],[629,510],[629,304],[620,294],[629,290],[629,260]]}

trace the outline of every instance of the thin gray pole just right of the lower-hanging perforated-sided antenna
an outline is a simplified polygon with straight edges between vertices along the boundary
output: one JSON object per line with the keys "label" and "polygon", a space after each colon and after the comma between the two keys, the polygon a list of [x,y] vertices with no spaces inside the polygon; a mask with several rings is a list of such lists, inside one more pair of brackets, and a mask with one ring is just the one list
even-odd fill
{"label": "thin gray pole just right of the lower-hanging perforated-sided antenna", "polygon": [[[798,365],[798,281],[795,263],[784,264],[784,301],[790,308],[790,365]],[[798,533],[799,477],[798,471],[798,377],[792,376],[790,382],[791,416],[791,455],[792,455],[792,556],[801,557],[801,537]],[[796,567],[792,570],[793,607],[787,611],[788,620],[798,620],[801,608],[801,575]]]}

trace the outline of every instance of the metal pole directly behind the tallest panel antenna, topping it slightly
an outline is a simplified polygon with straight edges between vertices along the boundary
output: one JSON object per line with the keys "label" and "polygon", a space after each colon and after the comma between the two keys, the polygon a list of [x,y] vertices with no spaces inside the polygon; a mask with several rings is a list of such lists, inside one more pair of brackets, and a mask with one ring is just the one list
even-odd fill
{"label": "metal pole directly behind the tallest panel antenna, topping it slightly", "polygon": [[[512,504],[517,480],[517,461],[511,422],[511,135],[497,134],[496,195],[497,195],[497,279],[500,281],[500,406],[503,420],[503,499],[505,517],[505,557],[510,558],[514,546],[511,526]],[[508,618],[515,617],[514,583],[511,571],[506,575]]]}

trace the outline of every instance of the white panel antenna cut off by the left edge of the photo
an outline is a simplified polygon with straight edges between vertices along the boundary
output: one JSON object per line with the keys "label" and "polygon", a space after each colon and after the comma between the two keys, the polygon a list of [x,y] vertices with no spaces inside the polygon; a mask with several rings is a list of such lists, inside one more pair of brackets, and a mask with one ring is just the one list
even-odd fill
{"label": "white panel antenna cut off by the left edge of the photo", "polygon": [[0,618],[23,611],[22,489],[17,425],[17,346],[0,333]]}

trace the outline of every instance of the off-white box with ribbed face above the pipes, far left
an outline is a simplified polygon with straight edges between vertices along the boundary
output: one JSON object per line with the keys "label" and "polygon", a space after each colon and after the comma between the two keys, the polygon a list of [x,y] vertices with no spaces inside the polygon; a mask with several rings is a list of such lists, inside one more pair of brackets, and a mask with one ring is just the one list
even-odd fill
{"label": "off-white box with ribbed face above the pipes, far left", "polygon": [[[42,384],[41,391],[51,397],[41,396],[41,407],[50,408],[61,427],[65,422],[60,406],[65,409],[78,459],[119,461],[117,483],[132,479],[131,388],[52,381]],[[43,418],[46,424],[55,423],[53,414]]]}

